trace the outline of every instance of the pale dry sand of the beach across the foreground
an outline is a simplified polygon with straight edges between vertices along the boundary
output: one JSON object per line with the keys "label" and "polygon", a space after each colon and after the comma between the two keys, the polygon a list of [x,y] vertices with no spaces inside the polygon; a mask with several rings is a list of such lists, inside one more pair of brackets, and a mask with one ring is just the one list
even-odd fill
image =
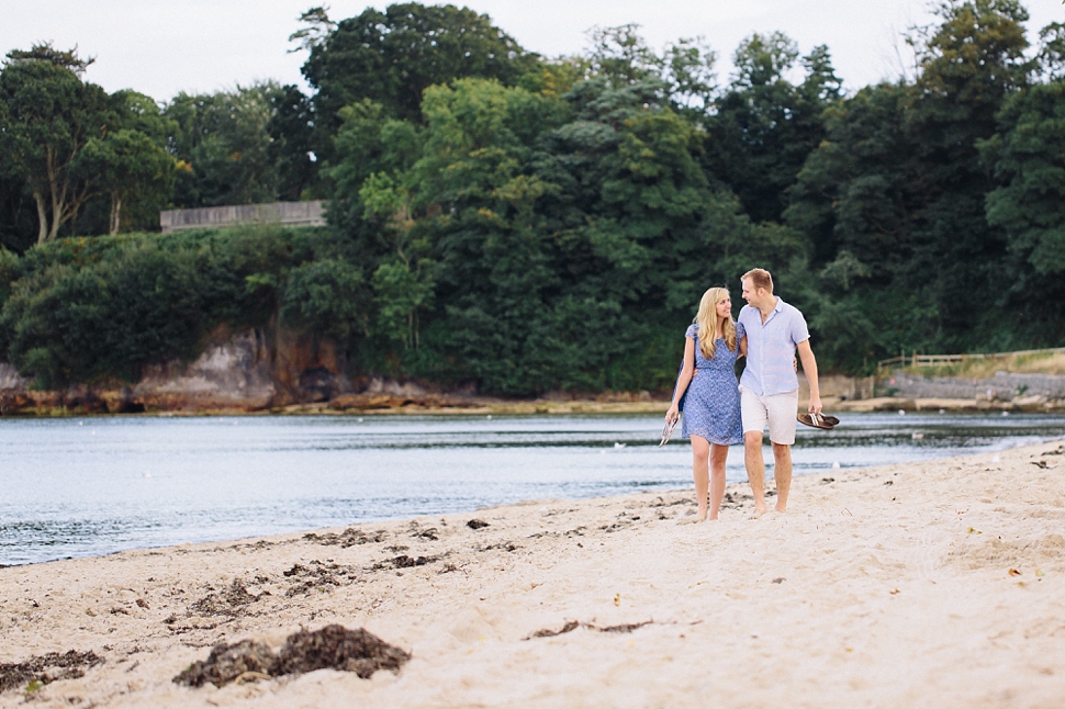
{"label": "pale dry sand of the beach across the foreground", "polygon": [[[1062,707],[1063,450],[806,476],[758,520],[739,485],[718,524],[679,491],[0,569],[0,663],[104,660],[0,707]],[[413,659],[171,682],[328,623]]]}

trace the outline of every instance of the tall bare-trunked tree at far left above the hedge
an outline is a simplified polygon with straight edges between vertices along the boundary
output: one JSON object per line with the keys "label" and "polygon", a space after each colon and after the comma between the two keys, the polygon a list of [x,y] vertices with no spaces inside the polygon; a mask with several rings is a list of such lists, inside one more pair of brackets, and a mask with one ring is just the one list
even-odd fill
{"label": "tall bare-trunked tree at far left above the hedge", "polygon": [[80,172],[78,157],[117,120],[108,93],[79,77],[90,63],[44,44],[9,53],[0,70],[0,159],[8,176],[29,185],[37,243],[55,239],[93,196],[97,176]]}

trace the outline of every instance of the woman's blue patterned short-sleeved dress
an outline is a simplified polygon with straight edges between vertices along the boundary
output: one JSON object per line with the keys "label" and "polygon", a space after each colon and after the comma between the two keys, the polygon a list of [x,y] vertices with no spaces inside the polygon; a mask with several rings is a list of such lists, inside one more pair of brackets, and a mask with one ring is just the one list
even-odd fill
{"label": "woman's blue patterned short-sleeved dress", "polygon": [[[714,359],[706,359],[699,348],[698,330],[698,325],[692,325],[684,334],[695,340],[695,374],[684,398],[681,436],[700,436],[718,446],[742,443],[740,385],[735,369],[737,353],[728,348],[724,337],[719,337],[714,344]],[[737,349],[743,335],[743,326],[737,323]]]}

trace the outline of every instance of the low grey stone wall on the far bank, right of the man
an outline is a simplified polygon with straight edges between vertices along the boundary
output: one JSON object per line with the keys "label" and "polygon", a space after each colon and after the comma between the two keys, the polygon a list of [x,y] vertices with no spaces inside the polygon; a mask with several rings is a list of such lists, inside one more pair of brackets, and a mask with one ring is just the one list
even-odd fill
{"label": "low grey stone wall on the far bank, right of the man", "polygon": [[909,398],[980,398],[1002,402],[1032,396],[1065,398],[1065,376],[1052,374],[995,372],[995,376],[989,379],[964,379],[922,376],[896,371],[882,380],[881,386],[888,391],[895,390],[895,396]]}

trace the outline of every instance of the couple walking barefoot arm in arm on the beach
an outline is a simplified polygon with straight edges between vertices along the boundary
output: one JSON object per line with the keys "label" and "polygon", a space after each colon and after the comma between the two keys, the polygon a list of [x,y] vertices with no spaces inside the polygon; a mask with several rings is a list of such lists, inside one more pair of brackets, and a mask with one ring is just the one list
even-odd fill
{"label": "couple walking barefoot arm in arm on the beach", "polygon": [[[725,461],[729,446],[743,441],[747,476],[754,494],[754,514],[765,514],[765,463],[762,434],[769,424],[776,465],[776,511],[787,509],[792,485],[792,444],[798,408],[795,352],[810,384],[810,414],[821,413],[817,361],[803,314],[773,294],[773,277],[764,269],[743,274],[747,306],[732,320],[728,289],[703,294],[695,323],[684,339],[684,364],[673,403],[665,414],[675,421],[684,398],[682,436],[692,439],[692,473],[698,511],[693,521],[717,519],[725,496]],[[747,368],[736,382],[736,360]],[[709,492],[709,504],[707,504]]]}

